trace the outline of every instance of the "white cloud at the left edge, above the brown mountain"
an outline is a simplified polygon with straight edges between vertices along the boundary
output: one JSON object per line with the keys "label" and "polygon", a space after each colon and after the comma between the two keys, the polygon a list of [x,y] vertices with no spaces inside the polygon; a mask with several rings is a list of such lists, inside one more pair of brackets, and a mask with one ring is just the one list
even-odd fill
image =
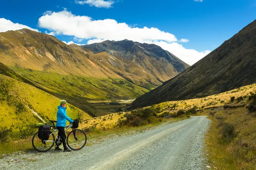
{"label": "white cloud at the left edge, above the brown mountain", "polygon": [[6,31],[10,31],[10,30],[15,31],[18,29],[23,29],[23,28],[27,28],[27,29],[30,29],[33,31],[40,32],[40,31],[38,31],[38,29],[33,29],[33,28],[30,28],[29,26],[25,26],[25,25],[22,25],[19,23],[13,23],[12,21],[6,20],[5,18],[0,18],[0,32],[6,32]]}

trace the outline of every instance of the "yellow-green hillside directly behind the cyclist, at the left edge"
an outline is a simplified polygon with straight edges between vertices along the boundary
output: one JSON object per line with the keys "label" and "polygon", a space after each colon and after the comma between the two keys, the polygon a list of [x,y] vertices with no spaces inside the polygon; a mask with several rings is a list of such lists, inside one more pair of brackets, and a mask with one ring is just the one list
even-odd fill
{"label": "yellow-green hillside directly behind the cyclist, at the left edge", "polygon": [[[0,128],[12,130],[12,138],[25,138],[36,129],[33,125],[42,122],[33,112],[37,113],[44,121],[56,120],[59,100],[38,88],[17,81],[0,74]],[[89,119],[87,113],[67,105],[67,113],[72,119]]]}

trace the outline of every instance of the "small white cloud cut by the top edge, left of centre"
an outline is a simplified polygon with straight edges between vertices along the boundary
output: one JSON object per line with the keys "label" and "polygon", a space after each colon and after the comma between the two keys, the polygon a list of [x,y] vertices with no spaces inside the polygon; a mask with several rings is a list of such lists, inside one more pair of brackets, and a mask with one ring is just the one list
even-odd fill
{"label": "small white cloud cut by the top edge, left of centre", "polygon": [[95,6],[97,8],[111,8],[113,3],[115,3],[113,0],[75,0],[75,2],[80,5],[88,4],[89,6]]}

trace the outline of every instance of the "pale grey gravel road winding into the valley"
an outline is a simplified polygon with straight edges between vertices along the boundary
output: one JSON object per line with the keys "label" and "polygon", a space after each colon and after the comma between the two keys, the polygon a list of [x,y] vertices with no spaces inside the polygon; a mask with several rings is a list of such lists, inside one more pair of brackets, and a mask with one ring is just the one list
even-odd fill
{"label": "pale grey gravel road winding into the valley", "polygon": [[[192,116],[132,135],[114,136],[70,153],[30,151],[0,159],[3,170],[201,170],[210,120]],[[88,144],[90,140],[88,141]]]}

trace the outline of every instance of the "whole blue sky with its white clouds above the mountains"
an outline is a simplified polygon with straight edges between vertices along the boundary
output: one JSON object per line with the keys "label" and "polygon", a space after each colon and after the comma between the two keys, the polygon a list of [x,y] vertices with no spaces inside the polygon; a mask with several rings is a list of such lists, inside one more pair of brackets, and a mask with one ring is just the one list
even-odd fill
{"label": "whole blue sky with its white clouds above the mountains", "polygon": [[192,65],[256,19],[256,0],[4,0],[0,18],[0,32],[33,28],[77,44],[127,38]]}

